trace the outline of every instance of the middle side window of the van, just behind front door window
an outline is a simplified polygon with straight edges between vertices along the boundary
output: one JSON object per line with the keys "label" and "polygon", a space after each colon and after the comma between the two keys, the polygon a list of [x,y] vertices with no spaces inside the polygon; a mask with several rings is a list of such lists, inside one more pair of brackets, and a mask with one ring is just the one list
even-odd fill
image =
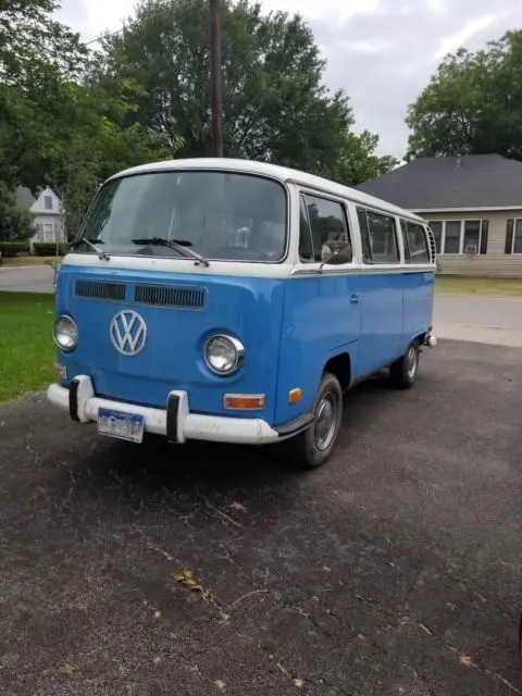
{"label": "middle side window of the van, just behind front door window", "polygon": [[359,208],[364,263],[399,263],[395,217]]}

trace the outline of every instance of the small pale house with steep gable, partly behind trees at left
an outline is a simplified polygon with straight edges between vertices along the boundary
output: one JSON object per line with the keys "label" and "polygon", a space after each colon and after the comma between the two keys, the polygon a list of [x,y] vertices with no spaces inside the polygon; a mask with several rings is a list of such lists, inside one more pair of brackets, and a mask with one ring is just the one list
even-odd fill
{"label": "small pale house with steep gable, partly behind trees at left", "polygon": [[51,188],[42,189],[35,198],[28,188],[18,187],[15,201],[17,208],[34,216],[36,234],[29,239],[30,247],[35,241],[64,241],[62,202]]}

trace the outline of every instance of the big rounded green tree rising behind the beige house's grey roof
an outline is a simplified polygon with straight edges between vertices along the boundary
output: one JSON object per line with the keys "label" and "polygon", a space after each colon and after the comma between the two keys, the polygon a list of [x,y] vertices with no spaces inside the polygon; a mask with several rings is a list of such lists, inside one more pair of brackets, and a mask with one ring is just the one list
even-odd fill
{"label": "big rounded green tree rising behind the beige house's grey roof", "polygon": [[407,158],[497,152],[522,160],[522,30],[459,49],[408,109]]}

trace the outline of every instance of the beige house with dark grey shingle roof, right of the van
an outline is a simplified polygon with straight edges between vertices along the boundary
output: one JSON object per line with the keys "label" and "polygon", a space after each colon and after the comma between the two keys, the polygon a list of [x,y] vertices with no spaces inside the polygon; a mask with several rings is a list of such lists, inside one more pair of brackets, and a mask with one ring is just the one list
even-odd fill
{"label": "beige house with dark grey shingle roof, right of the van", "polygon": [[522,277],[522,162],[421,158],[356,188],[427,220],[442,273]]}

